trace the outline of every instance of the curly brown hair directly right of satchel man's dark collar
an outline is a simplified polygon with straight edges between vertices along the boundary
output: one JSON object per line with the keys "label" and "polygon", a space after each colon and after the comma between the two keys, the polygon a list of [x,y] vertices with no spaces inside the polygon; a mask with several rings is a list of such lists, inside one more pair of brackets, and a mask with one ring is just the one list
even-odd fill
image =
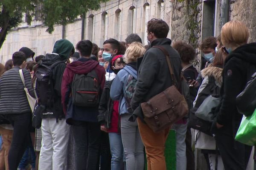
{"label": "curly brown hair directly right of satchel man's dark collar", "polygon": [[195,59],[195,48],[187,44],[185,41],[176,41],[172,47],[180,54],[180,59],[183,63],[189,63]]}

